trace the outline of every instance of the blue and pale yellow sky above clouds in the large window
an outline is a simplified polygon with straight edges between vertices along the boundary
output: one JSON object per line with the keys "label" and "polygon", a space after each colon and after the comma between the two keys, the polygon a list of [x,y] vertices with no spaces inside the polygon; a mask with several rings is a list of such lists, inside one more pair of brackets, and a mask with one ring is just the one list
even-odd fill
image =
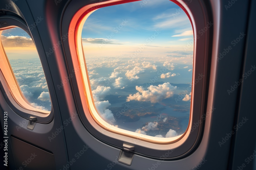
{"label": "blue and pale yellow sky above clouds in the large window", "polygon": [[[169,0],[151,0],[104,7],[86,20],[82,42],[87,57],[98,55],[156,54],[168,51],[193,51],[193,31],[189,18]],[[180,12],[181,11],[181,12]],[[155,35],[155,36],[154,36]],[[152,38],[150,39],[150,37]]]}

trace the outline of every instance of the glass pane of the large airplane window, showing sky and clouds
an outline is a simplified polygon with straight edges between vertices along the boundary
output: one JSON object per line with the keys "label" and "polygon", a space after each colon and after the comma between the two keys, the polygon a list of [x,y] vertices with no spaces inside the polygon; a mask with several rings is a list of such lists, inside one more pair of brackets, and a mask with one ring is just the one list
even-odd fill
{"label": "glass pane of the large airplane window, showing sky and clouds", "polygon": [[183,134],[190,117],[194,36],[169,0],[92,12],[82,45],[94,107],[109,125],[157,138]]}

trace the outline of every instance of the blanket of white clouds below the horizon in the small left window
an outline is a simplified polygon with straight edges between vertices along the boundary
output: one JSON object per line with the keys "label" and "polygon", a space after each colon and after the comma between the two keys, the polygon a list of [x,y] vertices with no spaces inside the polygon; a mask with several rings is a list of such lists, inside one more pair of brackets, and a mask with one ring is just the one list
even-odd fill
{"label": "blanket of white clouds below the horizon in the small left window", "polygon": [[40,59],[10,59],[9,62],[25,98],[33,107],[50,111],[51,101]]}

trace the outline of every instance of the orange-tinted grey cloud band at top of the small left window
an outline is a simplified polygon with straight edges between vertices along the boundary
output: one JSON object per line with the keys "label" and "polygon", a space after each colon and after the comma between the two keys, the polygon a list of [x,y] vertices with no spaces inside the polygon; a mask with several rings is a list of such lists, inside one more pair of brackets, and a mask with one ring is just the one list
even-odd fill
{"label": "orange-tinted grey cloud band at top of the small left window", "polygon": [[1,35],[1,41],[4,47],[35,47],[32,39],[25,36]]}

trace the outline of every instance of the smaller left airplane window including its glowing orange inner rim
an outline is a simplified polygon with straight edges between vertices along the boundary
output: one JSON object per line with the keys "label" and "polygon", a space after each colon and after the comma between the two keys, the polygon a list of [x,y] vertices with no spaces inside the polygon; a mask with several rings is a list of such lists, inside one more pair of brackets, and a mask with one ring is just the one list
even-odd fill
{"label": "smaller left airplane window including its glowing orange inner rim", "polygon": [[[1,70],[16,101],[25,109],[50,113],[49,90],[31,37],[15,27],[1,31],[1,43],[5,53]],[[3,69],[8,65],[10,74]]]}

